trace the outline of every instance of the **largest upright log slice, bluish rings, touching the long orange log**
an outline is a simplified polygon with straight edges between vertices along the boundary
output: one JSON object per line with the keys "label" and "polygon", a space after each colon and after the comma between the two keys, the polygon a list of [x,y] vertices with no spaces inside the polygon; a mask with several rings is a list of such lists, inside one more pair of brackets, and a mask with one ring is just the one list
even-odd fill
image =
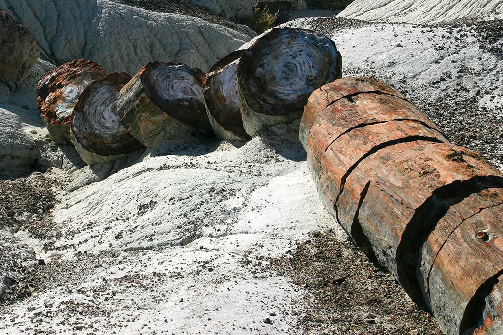
{"label": "largest upright log slice, bluish rings, touching the long orange log", "polygon": [[340,52],[324,35],[276,28],[262,36],[237,66],[239,103],[248,135],[300,118],[311,93],[340,78],[341,68]]}

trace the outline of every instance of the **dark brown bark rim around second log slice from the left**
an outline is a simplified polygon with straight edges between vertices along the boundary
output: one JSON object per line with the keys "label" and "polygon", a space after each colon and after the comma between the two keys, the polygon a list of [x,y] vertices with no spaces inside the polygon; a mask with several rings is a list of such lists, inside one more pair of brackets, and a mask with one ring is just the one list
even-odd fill
{"label": "dark brown bark rim around second log slice from the left", "polygon": [[[104,86],[119,86],[123,87],[126,83],[131,79],[131,76],[124,72],[114,72],[107,74],[103,79],[97,80],[91,83],[78,98],[77,104],[73,109],[72,114],[72,122],[71,122],[71,131],[82,147],[90,152],[97,153],[99,155],[107,156],[107,155],[119,155],[130,153],[134,150],[137,150],[143,145],[133,136],[131,136],[126,129],[124,128],[124,132],[122,134],[117,135],[113,141],[110,141],[106,138],[98,138],[93,137],[90,138],[88,135],[81,133],[75,129],[75,119],[78,115],[85,115],[83,109],[86,106],[86,103],[92,93],[93,90],[100,89]],[[119,89],[120,91],[120,89]],[[118,92],[119,92],[118,91]],[[112,99],[118,99],[117,97],[113,97]],[[119,118],[119,116],[117,116]],[[121,127],[123,127],[121,125]],[[118,144],[119,143],[119,144]]]}

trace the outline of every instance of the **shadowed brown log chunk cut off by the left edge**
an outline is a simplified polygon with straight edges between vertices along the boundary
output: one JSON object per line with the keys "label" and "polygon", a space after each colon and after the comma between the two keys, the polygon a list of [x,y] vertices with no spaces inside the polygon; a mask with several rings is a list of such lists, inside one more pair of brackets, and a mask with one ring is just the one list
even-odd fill
{"label": "shadowed brown log chunk cut off by the left edge", "polygon": [[0,10],[0,81],[17,89],[40,56],[31,32]]}

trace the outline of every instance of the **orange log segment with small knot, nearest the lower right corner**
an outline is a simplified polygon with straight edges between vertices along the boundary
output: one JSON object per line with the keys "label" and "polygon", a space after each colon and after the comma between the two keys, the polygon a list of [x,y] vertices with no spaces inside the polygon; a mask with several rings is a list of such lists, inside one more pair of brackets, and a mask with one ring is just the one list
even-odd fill
{"label": "orange log segment with small knot, nearest the lower right corner", "polygon": [[[487,301],[489,292],[484,295],[477,291],[503,271],[501,213],[503,189],[472,194],[448,210],[423,245],[418,278],[427,290],[425,297],[430,300],[433,313],[445,328],[463,333],[462,328],[483,322],[482,312],[469,302],[478,299],[480,306],[481,301]],[[501,310],[501,301],[492,304],[492,310],[497,304]],[[462,322],[468,316],[471,320]],[[503,315],[499,313],[492,320],[499,317]]]}

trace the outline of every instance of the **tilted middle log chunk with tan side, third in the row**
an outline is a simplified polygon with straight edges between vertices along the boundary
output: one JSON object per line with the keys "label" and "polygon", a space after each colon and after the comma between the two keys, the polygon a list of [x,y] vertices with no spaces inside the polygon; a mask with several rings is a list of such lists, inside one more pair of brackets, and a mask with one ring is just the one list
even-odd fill
{"label": "tilted middle log chunk with tan side, third in the row", "polygon": [[211,129],[203,99],[204,72],[183,63],[153,61],[120,92],[122,125],[146,147],[195,129]]}

